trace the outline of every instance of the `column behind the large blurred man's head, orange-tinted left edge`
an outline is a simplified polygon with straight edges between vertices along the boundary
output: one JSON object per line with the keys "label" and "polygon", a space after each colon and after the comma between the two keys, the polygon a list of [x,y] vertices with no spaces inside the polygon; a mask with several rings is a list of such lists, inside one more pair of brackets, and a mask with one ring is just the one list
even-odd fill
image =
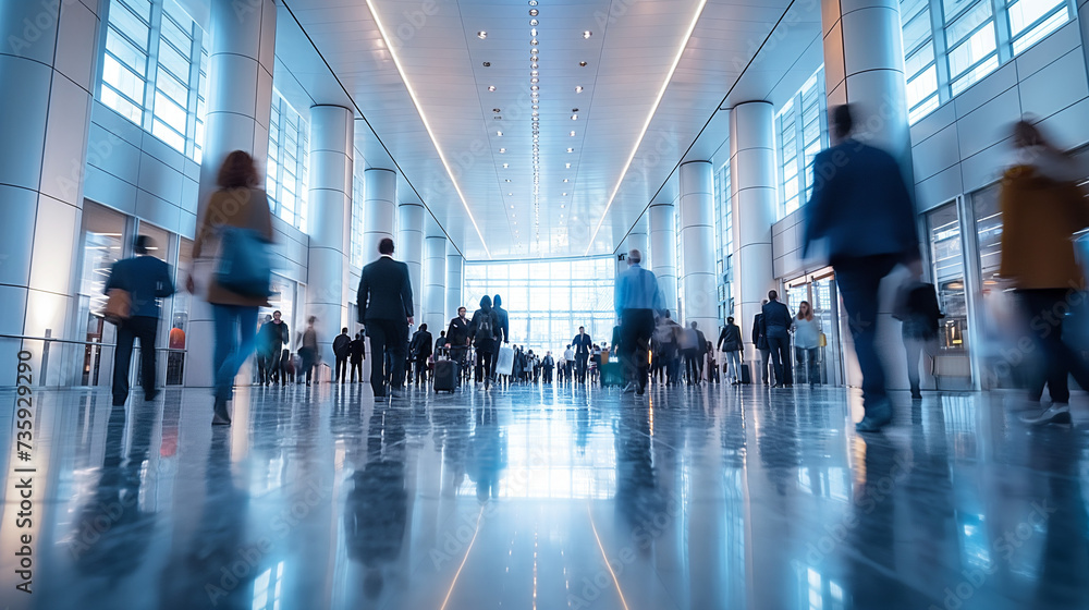
{"label": "column behind the large blurred man's head, orange-tinted left edge", "polygon": [[828,107],[854,107],[856,137],[900,160],[911,181],[900,2],[822,0]]}

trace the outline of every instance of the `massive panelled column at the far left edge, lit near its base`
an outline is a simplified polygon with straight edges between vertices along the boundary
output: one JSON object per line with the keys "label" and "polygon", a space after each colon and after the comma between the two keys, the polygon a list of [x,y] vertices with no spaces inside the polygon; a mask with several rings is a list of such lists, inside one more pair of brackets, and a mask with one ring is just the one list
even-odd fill
{"label": "massive panelled column at the far left edge, lit near its base", "polygon": [[[87,4],[90,4],[88,8]],[[88,155],[108,156],[115,139],[91,142],[90,108],[106,19],[99,2],[0,2],[0,332],[63,339],[78,333],[70,322],[76,292]],[[86,325],[86,320],[83,320]],[[70,329],[69,326],[72,326]],[[86,330],[85,328],[83,329]],[[76,337],[77,339],[85,339]],[[44,343],[0,339],[12,363],[32,353],[34,381],[73,382],[53,345],[49,371],[40,369]],[[81,361],[82,363],[82,361]],[[107,375],[109,369],[107,369]],[[0,386],[14,386],[15,365],[0,370]]]}

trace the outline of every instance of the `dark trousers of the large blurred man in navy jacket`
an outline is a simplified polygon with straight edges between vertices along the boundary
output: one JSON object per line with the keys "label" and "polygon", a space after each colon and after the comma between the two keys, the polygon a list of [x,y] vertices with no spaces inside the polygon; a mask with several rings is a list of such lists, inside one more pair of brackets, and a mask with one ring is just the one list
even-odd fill
{"label": "dark trousers of the large blurred man in navy jacket", "polygon": [[869,406],[888,395],[884,366],[876,345],[878,322],[878,289],[881,280],[896,266],[892,255],[837,260],[835,284],[847,312],[847,326],[855,341],[858,367],[862,371],[862,405]]}

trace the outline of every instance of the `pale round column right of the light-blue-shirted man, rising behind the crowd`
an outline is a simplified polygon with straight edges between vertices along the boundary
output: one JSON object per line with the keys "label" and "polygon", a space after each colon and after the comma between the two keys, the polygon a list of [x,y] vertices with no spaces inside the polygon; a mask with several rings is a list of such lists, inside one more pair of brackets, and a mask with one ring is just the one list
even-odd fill
{"label": "pale round column right of the light-blue-shirted man, rising behind the crowd", "polygon": [[[719,292],[714,270],[714,176],[710,161],[681,164],[681,229],[684,324],[697,322],[713,341],[719,334]],[[711,338],[711,335],[714,338]]]}

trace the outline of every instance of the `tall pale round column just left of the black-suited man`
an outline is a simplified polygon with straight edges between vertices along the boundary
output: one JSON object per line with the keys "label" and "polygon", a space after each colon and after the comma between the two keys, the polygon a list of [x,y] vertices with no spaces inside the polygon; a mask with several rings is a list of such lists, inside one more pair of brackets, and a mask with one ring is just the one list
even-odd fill
{"label": "tall pale round column just left of the black-suited man", "polygon": [[344,227],[352,218],[354,113],[342,106],[310,108],[310,245],[307,257],[307,316],[316,316],[318,351],[335,363],[333,339],[347,325],[344,285],[348,244]]}

